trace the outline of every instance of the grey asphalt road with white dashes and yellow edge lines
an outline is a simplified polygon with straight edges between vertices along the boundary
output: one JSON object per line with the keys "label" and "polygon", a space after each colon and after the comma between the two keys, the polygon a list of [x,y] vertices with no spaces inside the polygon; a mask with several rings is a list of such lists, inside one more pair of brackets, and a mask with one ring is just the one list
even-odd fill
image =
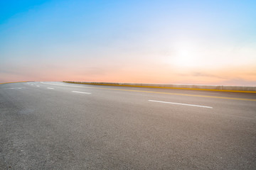
{"label": "grey asphalt road with white dashes and yellow edge lines", "polygon": [[256,169],[256,94],[0,85],[0,169]]}

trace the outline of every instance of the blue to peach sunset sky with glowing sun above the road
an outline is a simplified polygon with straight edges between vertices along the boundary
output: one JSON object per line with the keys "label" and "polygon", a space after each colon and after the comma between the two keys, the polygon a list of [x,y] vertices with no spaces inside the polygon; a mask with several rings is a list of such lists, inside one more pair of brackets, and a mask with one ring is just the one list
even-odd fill
{"label": "blue to peach sunset sky with glowing sun above the road", "polygon": [[256,86],[256,1],[0,1],[0,83]]}

